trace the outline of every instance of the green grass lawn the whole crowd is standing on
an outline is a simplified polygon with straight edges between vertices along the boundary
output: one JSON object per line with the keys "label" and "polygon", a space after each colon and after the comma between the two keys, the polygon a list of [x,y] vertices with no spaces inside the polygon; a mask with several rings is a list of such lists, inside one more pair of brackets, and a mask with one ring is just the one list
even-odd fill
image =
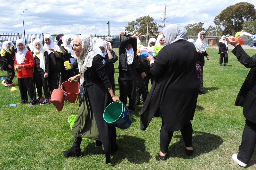
{"label": "green grass lawn the whole crowd is standing on", "polygon": [[[11,87],[0,85],[0,169],[241,169],[231,156],[238,152],[245,119],[242,108],[234,103],[249,69],[231,52],[228,67],[220,67],[218,49],[207,52],[210,60],[204,66],[206,94],[198,96],[192,121],[192,156],[185,154],[184,142],[177,131],[168,149],[168,159],[159,161],[161,120],[154,118],[148,129],[141,131],[140,105],[132,115],[131,127],[117,129],[119,150],[110,164],[105,164],[102,148],[96,147],[92,140],[82,141],[82,157],[66,158],[61,152],[68,150],[74,141],[67,119],[76,114],[78,104],[65,102],[60,112],[52,104],[9,107],[20,101],[19,89],[10,91]],[[246,52],[252,56],[256,51]],[[118,96],[117,69],[115,76]],[[0,77],[6,77],[6,72],[0,72]],[[247,169],[256,169],[254,164],[255,154]]]}

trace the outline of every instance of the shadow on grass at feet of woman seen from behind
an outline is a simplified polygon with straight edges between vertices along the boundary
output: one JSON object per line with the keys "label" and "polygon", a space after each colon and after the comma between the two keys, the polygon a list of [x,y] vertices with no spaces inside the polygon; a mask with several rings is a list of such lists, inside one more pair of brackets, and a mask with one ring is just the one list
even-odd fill
{"label": "shadow on grass at feet of woman seen from behind", "polygon": [[185,153],[185,144],[182,136],[175,135],[173,137],[180,138],[180,141],[175,144],[171,144],[171,146],[169,146],[168,156],[179,157],[184,159],[192,159],[204,153],[216,150],[223,143],[222,138],[217,135],[206,133],[206,132],[194,131],[193,143],[192,143],[194,152],[191,156],[187,156]]}

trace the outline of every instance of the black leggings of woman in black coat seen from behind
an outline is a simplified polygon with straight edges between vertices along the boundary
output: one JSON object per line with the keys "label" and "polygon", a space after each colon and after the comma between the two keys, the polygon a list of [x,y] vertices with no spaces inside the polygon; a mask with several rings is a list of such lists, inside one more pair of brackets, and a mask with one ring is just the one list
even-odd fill
{"label": "black leggings of woman in black coat seen from behind", "polygon": [[[191,122],[183,126],[183,129],[180,130],[180,133],[184,139],[184,143],[186,147],[192,147],[192,133],[193,127]],[[164,121],[162,118],[162,127],[160,130],[160,151],[162,153],[166,153],[168,150],[168,146],[172,140],[173,131],[164,131]]]}

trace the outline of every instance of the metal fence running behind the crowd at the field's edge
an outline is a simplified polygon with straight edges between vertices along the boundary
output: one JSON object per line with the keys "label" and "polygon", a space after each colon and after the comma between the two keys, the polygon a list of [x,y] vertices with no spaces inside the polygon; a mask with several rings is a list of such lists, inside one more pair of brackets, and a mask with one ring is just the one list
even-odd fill
{"label": "metal fence running behind the crowd at the field's edge", "polygon": [[[15,43],[15,41],[17,39],[24,39],[26,41],[26,44],[30,43],[30,36],[31,35],[35,35],[36,38],[40,38],[41,40],[44,40],[44,35],[46,33],[38,33],[38,34],[22,34],[22,33],[0,33],[0,42],[4,42],[4,41],[12,41],[13,43]],[[52,40],[54,42],[57,42],[56,40],[56,36],[58,35],[57,33],[50,33],[50,35],[52,36]],[[77,36],[77,35],[81,35],[81,34],[66,34],[69,35],[72,40]],[[101,38],[103,40],[105,40],[105,38],[108,35],[97,35],[97,34],[89,34],[92,38],[93,37],[97,37],[97,38]],[[112,37],[112,41],[114,42],[114,45],[112,48],[118,48],[120,42],[124,39],[124,36],[120,36],[120,35],[110,35],[110,37]],[[148,46],[148,40],[151,38],[152,36],[141,36],[140,37],[140,42],[142,43],[142,45],[144,46]],[[157,38],[157,37],[154,37]],[[193,38],[195,41],[197,39],[197,35],[195,36],[188,36],[186,37],[186,39],[189,38]],[[216,36],[206,36],[205,41],[209,44],[209,45],[215,45],[215,43],[219,42],[220,37],[216,37]],[[214,43],[215,42],[215,43]],[[42,41],[42,43],[44,44],[44,41]]]}

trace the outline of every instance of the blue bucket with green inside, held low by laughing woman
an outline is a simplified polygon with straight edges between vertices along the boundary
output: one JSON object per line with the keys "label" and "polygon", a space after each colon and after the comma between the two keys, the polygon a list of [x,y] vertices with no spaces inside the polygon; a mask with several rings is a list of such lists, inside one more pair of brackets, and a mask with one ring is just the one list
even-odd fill
{"label": "blue bucket with green inside, held low by laughing woman", "polygon": [[127,129],[132,124],[129,110],[121,102],[110,103],[104,110],[103,118],[108,124],[120,129]]}

